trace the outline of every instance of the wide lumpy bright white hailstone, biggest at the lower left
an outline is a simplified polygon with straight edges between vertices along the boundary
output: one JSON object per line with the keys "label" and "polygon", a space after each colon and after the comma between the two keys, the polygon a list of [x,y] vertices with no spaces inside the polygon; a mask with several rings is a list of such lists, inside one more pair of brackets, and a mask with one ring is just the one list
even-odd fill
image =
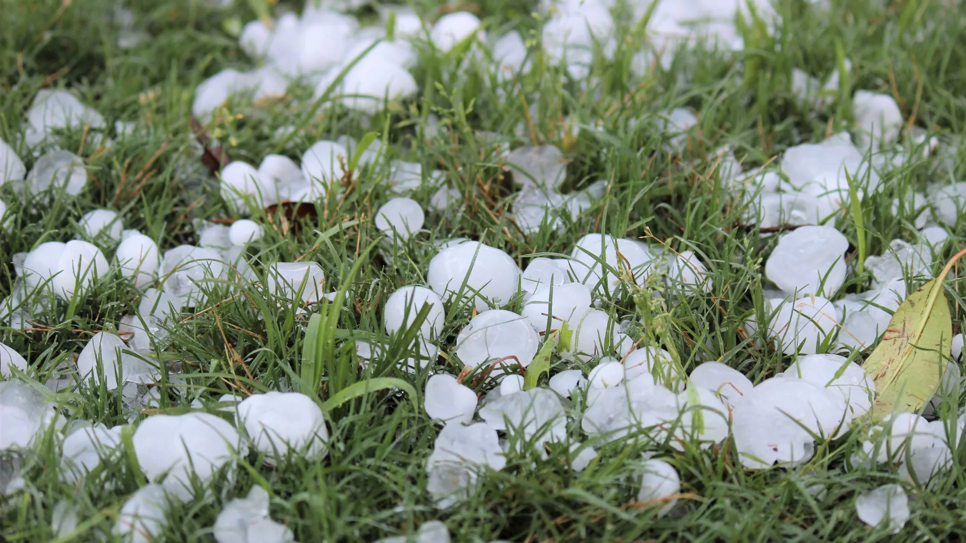
{"label": "wide lumpy bright white hailstone, biggest at the lower left", "polygon": [[148,480],[160,482],[181,500],[193,494],[192,477],[207,485],[235,455],[247,452],[231,424],[207,413],[149,416],[137,426],[131,442]]}

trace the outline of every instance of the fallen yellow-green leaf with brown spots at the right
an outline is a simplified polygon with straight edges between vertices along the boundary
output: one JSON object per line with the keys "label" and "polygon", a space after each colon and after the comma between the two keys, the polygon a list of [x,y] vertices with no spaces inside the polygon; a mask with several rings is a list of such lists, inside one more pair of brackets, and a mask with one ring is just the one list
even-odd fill
{"label": "fallen yellow-green leaf with brown spots at the right", "polygon": [[863,364],[875,382],[872,418],[916,413],[939,388],[952,350],[945,276],[929,281],[899,305],[879,346]]}

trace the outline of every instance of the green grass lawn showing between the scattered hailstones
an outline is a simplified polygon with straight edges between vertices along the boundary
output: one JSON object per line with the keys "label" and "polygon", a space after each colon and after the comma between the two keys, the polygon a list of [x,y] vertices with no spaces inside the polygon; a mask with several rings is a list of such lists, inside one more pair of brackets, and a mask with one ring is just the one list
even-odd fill
{"label": "green grass lawn showing between the scattered hailstones", "polygon": [[[215,71],[252,66],[236,39],[225,33],[224,21],[247,21],[256,14],[244,2],[225,10],[199,0],[130,2],[136,27],[150,38],[123,50],[116,45],[120,28],[111,22],[114,4],[37,0],[4,9],[0,137],[17,141],[30,101],[43,87],[71,89],[97,108],[109,127],[121,120],[138,128],[129,136],[111,133],[110,148],[82,145],[79,131],[62,134],[58,143],[83,157],[90,171],[87,190],[75,199],[46,205],[23,201],[10,186],[2,188],[14,214],[14,226],[0,243],[4,296],[13,285],[14,254],[43,241],[72,239],[76,221],[91,209],[121,212],[126,228],[139,229],[162,250],[196,242],[193,218],[233,216],[198,155],[190,102],[194,87]],[[296,4],[283,3],[276,10],[298,10]],[[531,4],[483,0],[473,6],[488,29],[517,28],[526,41],[534,41],[540,17],[530,13]],[[966,531],[966,518],[958,511],[966,500],[966,446],[958,447],[948,472],[923,487],[907,485],[914,497],[913,515],[893,536],[886,529],[868,528],[855,515],[858,493],[898,480],[888,467],[848,467],[851,452],[860,446],[855,434],[818,443],[804,466],[760,472],[741,469],[727,442],[675,452],[667,443],[618,441],[603,446],[598,460],[579,474],[565,468],[565,450],[552,448],[540,459],[525,446],[525,454],[510,455],[503,471],[482,478],[472,498],[452,509],[437,511],[425,492],[424,461],[437,433],[421,408],[427,376],[396,367],[412,336],[385,338],[380,304],[400,286],[425,282],[435,242],[453,236],[479,239],[505,249],[521,266],[537,255],[569,254],[587,232],[694,250],[710,270],[710,296],[674,300],[662,315],[641,314],[654,305],[638,304],[629,295],[605,302],[603,309],[618,320],[632,319],[638,337],[673,347],[685,369],[718,359],[756,382],[790,361],[760,331],[747,337],[740,330],[749,317],[757,315],[760,321],[766,315],[762,289],[770,287],[761,267],[776,237],[760,237],[753,226],[742,224],[741,202],[719,183],[717,158],[710,151],[730,146],[746,170],[774,161],[789,146],[848,129],[849,97],[856,89],[893,94],[911,126],[929,129],[950,144],[944,167],[912,160],[888,175],[880,192],[867,195],[861,206],[850,206],[838,219],[852,243],[848,263],[859,271],[850,273],[840,294],[860,292],[871,280],[860,267],[859,251],[881,254],[895,238],[914,239],[914,210],[894,215],[895,197],[963,179],[966,153],[958,134],[966,123],[961,23],[966,8],[942,1],[845,0],[822,13],[806,4],[778,2],[784,22],[771,32],[748,25],[750,46],[743,51],[701,46],[679,55],[669,70],[656,68],[643,78],[629,69],[635,44],[641,43],[639,29],[635,21],[616,17],[614,60],[599,59],[585,80],[569,78],[534,49],[530,74],[499,84],[481,68],[484,63],[426,46],[413,70],[420,98],[390,104],[387,112],[369,120],[325,103],[317,107],[310,88],[294,87],[286,99],[257,106],[227,104],[222,121],[209,131],[233,159],[257,164],[269,153],[298,159],[318,139],[341,134],[360,139],[376,131],[392,144],[389,157],[418,161],[427,171],[443,170],[446,183],[460,189],[465,203],[445,216],[431,216],[424,232],[408,243],[386,248],[379,244],[372,216],[391,196],[384,187],[385,168],[376,167],[363,170],[348,195],[330,199],[318,215],[288,222],[255,215],[267,225],[265,239],[248,253],[259,277],[264,278],[267,263],[309,259],[325,270],[330,290],[346,292],[344,306],[324,304],[323,313],[331,319],[323,318],[329,324],[316,334],[335,348],[312,362],[319,367],[303,367],[305,315],[277,308],[276,300],[252,283],[213,282],[205,289],[216,303],[185,313],[168,343],[157,349],[156,357],[166,362],[158,410],[131,409],[120,394],[87,387],[60,393],[59,401],[77,418],[125,424],[156,412],[184,412],[194,399],[210,404],[223,393],[294,388],[301,383],[298,376],[314,371],[323,375],[320,399],[325,400],[358,379],[355,372],[331,373],[358,363],[351,349],[340,347],[343,342],[389,342],[386,355],[375,358],[362,377],[402,379],[415,394],[378,391],[333,409],[327,414],[332,440],[324,462],[294,461],[269,469],[254,456],[240,458],[241,468],[216,477],[210,494],[173,506],[165,531],[169,541],[213,540],[211,527],[222,505],[247,494],[252,484],[270,488],[272,517],[303,542],[369,541],[410,533],[433,519],[444,521],[460,542],[957,539]],[[435,3],[416,6],[430,18],[440,13]],[[360,14],[373,16],[365,9]],[[791,69],[821,78],[843,54],[854,69],[838,100],[827,111],[797,104],[790,91]],[[664,150],[656,117],[677,106],[692,108],[700,121],[680,156]],[[283,126],[297,130],[291,137],[276,135]],[[567,127],[579,129],[576,137],[568,135]],[[482,129],[516,134],[515,145],[539,141],[559,146],[570,159],[566,190],[602,179],[608,182],[607,197],[578,219],[565,219],[562,232],[522,235],[505,213],[512,189],[509,172],[501,168],[494,148],[475,135]],[[18,152],[29,167],[35,158],[25,149]],[[425,204],[430,194],[427,187],[413,197]],[[960,214],[943,256],[966,246],[964,222]],[[944,261],[937,259],[933,272]],[[966,310],[963,284],[952,280],[949,285],[958,331]],[[116,328],[121,317],[134,311],[139,295],[125,281],[105,279],[86,300],[70,305],[48,301],[35,312],[31,328],[0,329],[0,338],[31,362],[31,374],[43,383],[94,332]],[[513,300],[507,307],[521,306],[521,300]],[[447,309],[443,354],[448,358],[440,358],[438,370],[456,374],[461,366],[449,349],[470,310],[466,303]],[[660,329],[646,326],[658,319]],[[593,363],[578,367],[587,370]],[[551,364],[552,372],[563,367],[557,357]],[[332,382],[329,387],[334,377],[338,386]],[[580,402],[568,409],[579,414]],[[945,408],[957,413],[960,404],[961,398],[953,396]],[[574,442],[585,439],[579,426],[571,424]],[[633,501],[638,459],[645,451],[668,459],[681,474],[685,496],[664,518],[652,514],[661,504],[641,507]],[[112,485],[89,477],[71,486],[57,477],[59,453],[52,436],[31,450],[7,453],[5,462],[19,466],[27,487],[0,501],[0,540],[52,540],[51,511],[64,499],[75,501],[82,525],[60,541],[105,540],[99,530],[109,531],[121,504],[140,484],[132,456],[122,454],[127,458],[104,468]],[[814,488],[824,492],[810,492]]]}

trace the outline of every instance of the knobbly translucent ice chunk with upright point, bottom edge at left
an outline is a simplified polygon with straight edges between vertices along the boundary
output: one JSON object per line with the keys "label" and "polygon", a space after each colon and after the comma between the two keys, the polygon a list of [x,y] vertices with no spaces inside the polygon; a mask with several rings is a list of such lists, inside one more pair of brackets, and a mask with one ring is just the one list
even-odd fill
{"label": "knobbly translucent ice chunk with upright point, bottom edge at left", "polygon": [[269,517],[269,493],[252,486],[245,498],[225,504],[214,520],[214,540],[218,543],[292,543],[295,534]]}

